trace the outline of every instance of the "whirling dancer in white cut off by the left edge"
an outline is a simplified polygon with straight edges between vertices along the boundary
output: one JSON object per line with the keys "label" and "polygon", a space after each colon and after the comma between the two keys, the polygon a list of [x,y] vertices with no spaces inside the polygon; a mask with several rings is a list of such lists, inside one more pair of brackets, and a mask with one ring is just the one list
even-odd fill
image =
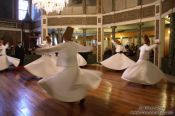
{"label": "whirling dancer in white cut off by the left edge", "polygon": [[6,55],[6,49],[8,46],[8,43],[4,45],[3,40],[0,40],[0,71],[8,69],[10,65],[17,67],[20,63],[20,59]]}

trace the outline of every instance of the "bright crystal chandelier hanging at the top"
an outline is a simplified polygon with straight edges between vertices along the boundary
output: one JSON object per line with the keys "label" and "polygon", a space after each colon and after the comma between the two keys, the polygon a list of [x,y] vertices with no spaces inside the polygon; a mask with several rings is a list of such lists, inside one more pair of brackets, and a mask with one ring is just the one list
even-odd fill
{"label": "bright crystal chandelier hanging at the top", "polygon": [[69,0],[32,0],[32,4],[37,7],[37,9],[43,9],[46,13],[56,11],[60,13],[63,8],[68,4]]}

